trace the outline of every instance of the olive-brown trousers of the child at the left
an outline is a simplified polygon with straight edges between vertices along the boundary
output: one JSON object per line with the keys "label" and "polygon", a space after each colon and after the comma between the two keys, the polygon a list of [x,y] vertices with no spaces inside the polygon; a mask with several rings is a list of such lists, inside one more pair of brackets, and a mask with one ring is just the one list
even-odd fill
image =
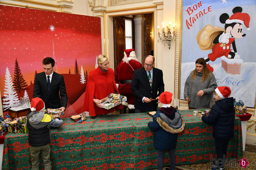
{"label": "olive-brown trousers of the child at the left", "polygon": [[32,170],[39,170],[40,153],[42,153],[44,161],[44,170],[51,170],[50,152],[51,148],[49,143],[44,146],[30,146]]}

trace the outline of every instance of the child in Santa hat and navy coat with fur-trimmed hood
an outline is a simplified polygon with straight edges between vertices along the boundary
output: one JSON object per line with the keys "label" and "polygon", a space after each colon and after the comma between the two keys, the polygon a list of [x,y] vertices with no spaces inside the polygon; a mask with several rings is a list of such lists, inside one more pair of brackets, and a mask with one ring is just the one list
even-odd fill
{"label": "child in Santa hat and navy coat with fur-trimmed hood", "polygon": [[183,131],[185,125],[182,116],[170,105],[172,93],[161,93],[159,101],[163,106],[153,115],[153,122],[148,122],[149,128],[154,131],[154,147],[157,149],[157,169],[162,170],[164,151],[167,150],[171,161],[170,170],[175,170],[177,137],[178,133]]}

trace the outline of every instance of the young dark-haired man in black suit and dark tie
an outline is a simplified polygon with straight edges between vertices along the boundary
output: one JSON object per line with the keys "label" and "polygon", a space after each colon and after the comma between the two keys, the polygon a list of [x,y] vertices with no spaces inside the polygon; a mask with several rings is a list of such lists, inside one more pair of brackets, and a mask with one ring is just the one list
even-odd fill
{"label": "young dark-haired man in black suit and dark tie", "polygon": [[50,57],[43,59],[44,72],[36,74],[33,98],[41,98],[44,101],[45,109],[65,111],[68,97],[64,77],[53,71],[54,65],[54,59]]}

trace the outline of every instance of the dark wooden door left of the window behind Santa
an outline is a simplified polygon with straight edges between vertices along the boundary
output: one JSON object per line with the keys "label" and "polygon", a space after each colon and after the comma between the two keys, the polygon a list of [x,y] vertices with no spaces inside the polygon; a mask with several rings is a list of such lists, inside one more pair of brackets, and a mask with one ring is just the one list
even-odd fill
{"label": "dark wooden door left of the window behind Santa", "polygon": [[124,58],[125,20],[114,17],[114,61],[115,68]]}

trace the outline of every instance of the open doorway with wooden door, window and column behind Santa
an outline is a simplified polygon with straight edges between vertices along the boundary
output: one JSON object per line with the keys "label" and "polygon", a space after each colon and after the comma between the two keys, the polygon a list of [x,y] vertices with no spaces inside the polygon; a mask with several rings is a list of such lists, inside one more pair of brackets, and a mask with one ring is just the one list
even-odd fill
{"label": "open doorway with wooden door, window and column behind Santa", "polygon": [[154,13],[113,17],[114,70],[125,49],[135,49],[139,62],[154,55]]}

